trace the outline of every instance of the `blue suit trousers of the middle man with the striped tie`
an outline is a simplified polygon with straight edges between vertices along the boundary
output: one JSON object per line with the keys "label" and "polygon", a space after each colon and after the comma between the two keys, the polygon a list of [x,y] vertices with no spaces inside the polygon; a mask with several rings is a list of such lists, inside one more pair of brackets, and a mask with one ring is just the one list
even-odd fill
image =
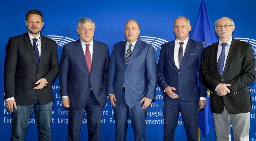
{"label": "blue suit trousers of the middle man with the striped tie", "polygon": [[130,115],[135,141],[146,141],[146,122],[149,108],[142,109],[142,105],[129,107],[125,102],[125,91],[122,91],[120,104],[115,103],[115,141],[126,141],[128,117]]}

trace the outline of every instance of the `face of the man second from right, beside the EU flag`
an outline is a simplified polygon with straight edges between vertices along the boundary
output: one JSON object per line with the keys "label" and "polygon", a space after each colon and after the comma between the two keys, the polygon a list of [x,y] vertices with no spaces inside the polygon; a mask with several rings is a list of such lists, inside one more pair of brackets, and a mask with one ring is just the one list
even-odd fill
{"label": "face of the man second from right, beside the EU flag", "polygon": [[185,18],[179,18],[175,21],[173,31],[176,35],[176,38],[179,41],[184,41],[189,37],[189,31],[191,26],[188,26],[187,20]]}

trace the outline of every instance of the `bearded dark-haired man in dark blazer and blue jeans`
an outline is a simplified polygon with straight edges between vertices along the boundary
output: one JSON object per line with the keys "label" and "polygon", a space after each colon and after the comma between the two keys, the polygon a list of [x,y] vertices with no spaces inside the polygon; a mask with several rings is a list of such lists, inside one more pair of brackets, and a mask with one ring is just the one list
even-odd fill
{"label": "bearded dark-haired man in dark blazer and blue jeans", "polygon": [[11,37],[4,61],[4,99],[12,112],[10,140],[24,140],[32,109],[40,141],[51,140],[51,82],[59,66],[57,44],[40,34],[43,15],[38,10],[26,14],[28,32]]}

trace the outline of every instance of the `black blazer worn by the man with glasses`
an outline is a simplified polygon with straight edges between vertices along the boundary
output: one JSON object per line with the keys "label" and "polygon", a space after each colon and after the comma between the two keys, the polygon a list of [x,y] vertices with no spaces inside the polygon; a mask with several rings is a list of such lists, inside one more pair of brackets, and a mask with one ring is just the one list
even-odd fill
{"label": "black blazer worn by the man with glasses", "polygon": [[[213,113],[222,113],[224,106],[231,114],[251,111],[252,101],[248,85],[255,80],[255,59],[252,45],[232,39],[223,75],[217,69],[219,42],[204,49],[199,77],[211,91],[210,106]],[[215,88],[220,83],[231,84],[230,93],[216,95]]]}

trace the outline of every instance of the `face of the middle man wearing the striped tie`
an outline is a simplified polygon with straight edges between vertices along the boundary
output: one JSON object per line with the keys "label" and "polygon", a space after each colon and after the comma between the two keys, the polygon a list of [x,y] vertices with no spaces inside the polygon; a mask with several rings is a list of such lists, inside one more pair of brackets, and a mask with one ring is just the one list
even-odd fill
{"label": "face of the middle man wearing the striped tie", "polygon": [[130,21],[125,24],[124,34],[126,37],[126,41],[129,44],[132,44],[137,40],[140,32],[141,31],[139,29],[139,25],[135,21]]}

